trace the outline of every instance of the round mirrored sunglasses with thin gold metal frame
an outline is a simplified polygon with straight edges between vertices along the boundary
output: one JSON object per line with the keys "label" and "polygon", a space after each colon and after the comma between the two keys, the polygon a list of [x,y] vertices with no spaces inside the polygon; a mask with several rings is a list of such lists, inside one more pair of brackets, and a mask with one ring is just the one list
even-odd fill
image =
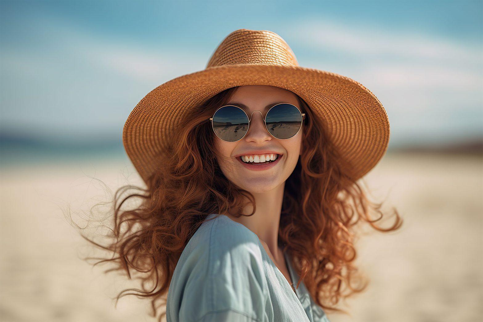
{"label": "round mirrored sunglasses with thin gold metal frame", "polygon": [[[305,113],[301,113],[297,106],[290,103],[278,103],[270,107],[264,121],[265,128],[271,136],[287,140],[300,131],[304,119]],[[210,120],[213,132],[225,142],[241,140],[248,132],[251,122],[245,111],[235,105],[218,108]]]}

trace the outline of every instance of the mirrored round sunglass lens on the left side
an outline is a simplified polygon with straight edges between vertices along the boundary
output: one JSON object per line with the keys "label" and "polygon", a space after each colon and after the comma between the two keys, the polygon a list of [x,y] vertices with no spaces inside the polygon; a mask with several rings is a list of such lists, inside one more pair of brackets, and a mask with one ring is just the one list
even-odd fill
{"label": "mirrored round sunglass lens on the left side", "polygon": [[220,139],[235,142],[248,131],[248,117],[238,106],[224,106],[213,116],[213,130]]}

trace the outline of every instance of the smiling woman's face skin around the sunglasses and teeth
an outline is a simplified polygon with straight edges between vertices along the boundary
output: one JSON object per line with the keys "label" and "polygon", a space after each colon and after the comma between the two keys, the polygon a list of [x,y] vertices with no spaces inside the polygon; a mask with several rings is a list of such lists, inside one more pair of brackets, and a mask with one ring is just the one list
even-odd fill
{"label": "smiling woman's face skin around the sunglasses and teeth", "polygon": [[[264,108],[278,102],[293,104],[302,112],[297,96],[289,90],[265,85],[241,86],[226,105],[242,103],[247,106],[245,112],[250,118],[248,132],[237,142],[225,142],[213,133],[215,149],[221,155],[217,156],[217,161],[223,174],[236,186],[252,193],[270,191],[284,184],[301,154],[303,127],[286,140],[271,136],[265,127],[267,111]],[[251,155],[257,160],[256,155],[261,157],[272,153],[279,154],[273,164],[246,165],[240,160],[241,155]]]}

